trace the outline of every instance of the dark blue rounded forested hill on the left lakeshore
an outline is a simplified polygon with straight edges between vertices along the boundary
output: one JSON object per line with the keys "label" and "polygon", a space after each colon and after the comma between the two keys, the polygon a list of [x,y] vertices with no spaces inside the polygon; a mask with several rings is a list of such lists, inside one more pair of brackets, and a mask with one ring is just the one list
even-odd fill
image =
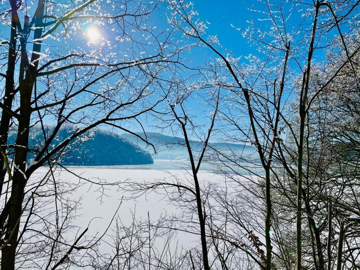
{"label": "dark blue rounded forested hill on the left lakeshore", "polygon": [[[51,129],[49,127],[49,131]],[[50,149],[68,138],[75,130],[76,128],[71,126],[60,129]],[[12,132],[9,136],[9,144],[14,143],[14,135],[16,132]],[[41,128],[39,126],[32,127],[29,136],[30,148],[37,151],[43,144],[44,135]],[[81,138],[71,141],[68,148],[73,150],[68,153],[66,149],[64,150],[60,160],[62,165],[100,166],[153,163],[152,157],[146,150],[114,132],[100,129],[91,130]],[[34,153],[28,153],[28,160],[32,159],[34,155]]]}

